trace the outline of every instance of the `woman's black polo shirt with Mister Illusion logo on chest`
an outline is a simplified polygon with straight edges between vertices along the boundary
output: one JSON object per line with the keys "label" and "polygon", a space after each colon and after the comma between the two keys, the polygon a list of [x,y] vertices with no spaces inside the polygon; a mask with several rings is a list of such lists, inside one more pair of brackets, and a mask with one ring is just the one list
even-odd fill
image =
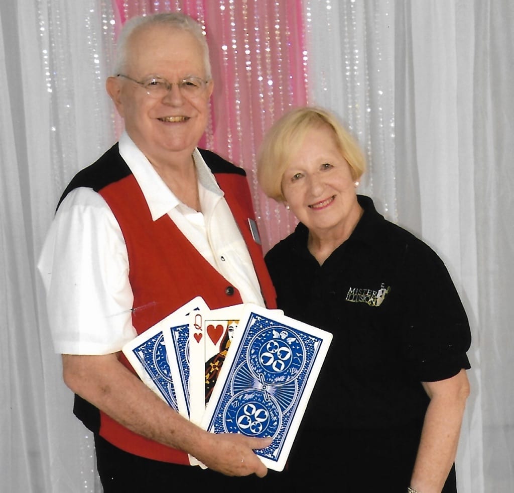
{"label": "woman's black polo shirt with Mister Illusion logo on chest", "polygon": [[470,367],[467,316],[443,261],[358,200],[362,218],[322,266],[301,223],[266,255],[279,308],[334,334],[304,418],[312,430],[422,421],[420,382]]}

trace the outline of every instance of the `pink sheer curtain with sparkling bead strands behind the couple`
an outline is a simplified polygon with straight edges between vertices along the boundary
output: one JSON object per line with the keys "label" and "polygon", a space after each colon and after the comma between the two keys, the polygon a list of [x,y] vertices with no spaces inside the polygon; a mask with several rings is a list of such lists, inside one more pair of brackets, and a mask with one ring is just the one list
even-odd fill
{"label": "pink sheer curtain with sparkling bead strands behind the couple", "polygon": [[255,154],[263,133],[307,101],[301,0],[113,0],[121,25],[135,15],[183,11],[205,26],[215,89],[200,142],[245,168],[263,248],[287,236],[295,218],[260,191]]}

